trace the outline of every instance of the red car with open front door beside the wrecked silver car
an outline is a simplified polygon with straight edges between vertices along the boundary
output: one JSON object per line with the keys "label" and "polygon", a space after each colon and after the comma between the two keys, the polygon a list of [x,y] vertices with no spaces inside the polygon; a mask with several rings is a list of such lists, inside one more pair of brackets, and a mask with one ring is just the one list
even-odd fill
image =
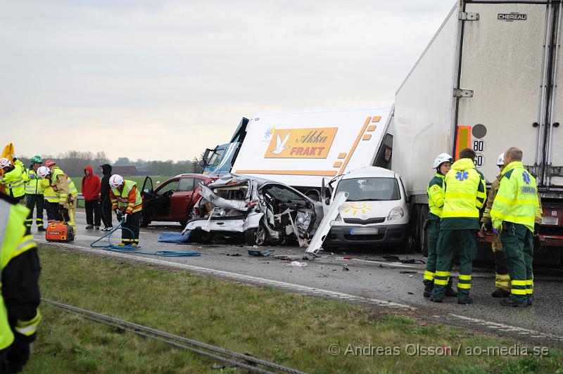
{"label": "red car with open front door beside the wrecked silver car", "polygon": [[153,180],[147,176],[141,191],[141,227],[148,226],[152,221],[175,221],[186,226],[200,198],[200,183],[208,185],[215,179],[205,174],[179,174],[153,189]]}

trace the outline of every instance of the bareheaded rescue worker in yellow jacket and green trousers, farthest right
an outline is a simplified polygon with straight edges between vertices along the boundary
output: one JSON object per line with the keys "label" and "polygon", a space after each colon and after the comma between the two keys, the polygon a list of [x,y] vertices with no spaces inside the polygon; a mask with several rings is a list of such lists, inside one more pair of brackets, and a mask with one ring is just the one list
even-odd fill
{"label": "bareheaded rescue worker in yellow jacket and green trousers, farthest right", "polygon": [[522,151],[505,152],[505,169],[491,207],[493,231],[500,233],[510,274],[510,298],[505,307],[529,307],[533,297],[533,233],[541,217],[536,179],[522,165]]}

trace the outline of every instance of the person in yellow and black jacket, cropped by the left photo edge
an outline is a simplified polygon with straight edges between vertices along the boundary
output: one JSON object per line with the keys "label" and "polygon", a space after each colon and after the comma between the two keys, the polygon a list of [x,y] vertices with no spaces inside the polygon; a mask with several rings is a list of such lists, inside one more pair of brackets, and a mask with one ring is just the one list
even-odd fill
{"label": "person in yellow and black jacket, cropped by the left photo edge", "polygon": [[29,210],[0,193],[0,373],[18,373],[30,359],[41,321],[39,257],[24,225]]}

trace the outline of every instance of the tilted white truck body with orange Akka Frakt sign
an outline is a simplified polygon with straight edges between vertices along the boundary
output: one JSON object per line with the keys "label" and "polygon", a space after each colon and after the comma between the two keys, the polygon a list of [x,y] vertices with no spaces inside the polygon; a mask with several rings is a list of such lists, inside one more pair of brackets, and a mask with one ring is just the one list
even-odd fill
{"label": "tilted white truck body with orange Akka Frakt sign", "polygon": [[391,154],[382,145],[392,113],[393,106],[259,113],[248,122],[232,172],[279,181],[318,200],[323,177],[388,166]]}

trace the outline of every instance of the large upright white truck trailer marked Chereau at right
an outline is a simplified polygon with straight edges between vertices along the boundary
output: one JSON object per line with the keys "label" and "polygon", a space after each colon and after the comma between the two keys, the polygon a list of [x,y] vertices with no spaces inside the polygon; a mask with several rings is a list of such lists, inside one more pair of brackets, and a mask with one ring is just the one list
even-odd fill
{"label": "large upright white truck trailer marked Chereau at right", "polygon": [[412,197],[423,252],[434,157],[472,148],[491,182],[498,155],[517,146],[543,201],[536,262],[561,264],[562,18],[561,1],[458,0],[396,92],[391,169]]}

